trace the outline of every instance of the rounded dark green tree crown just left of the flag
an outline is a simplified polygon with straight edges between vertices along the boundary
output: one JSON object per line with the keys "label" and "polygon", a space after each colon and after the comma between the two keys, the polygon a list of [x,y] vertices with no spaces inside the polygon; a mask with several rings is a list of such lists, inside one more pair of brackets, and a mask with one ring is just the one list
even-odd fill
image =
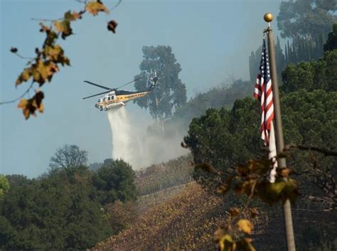
{"label": "rounded dark green tree crown just left of the flag", "polygon": [[236,100],[232,110],[209,109],[190,124],[184,142],[196,163],[234,170],[237,163],[259,156],[260,107],[251,98]]}

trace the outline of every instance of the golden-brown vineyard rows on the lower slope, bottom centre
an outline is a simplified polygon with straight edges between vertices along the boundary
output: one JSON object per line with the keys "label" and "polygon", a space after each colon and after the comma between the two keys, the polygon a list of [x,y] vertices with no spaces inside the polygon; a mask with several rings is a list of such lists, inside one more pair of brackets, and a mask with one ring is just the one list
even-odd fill
{"label": "golden-brown vineyard rows on the lower slope, bottom centre", "polygon": [[[213,233],[225,223],[224,201],[209,196],[195,182],[175,189],[179,193],[169,199],[163,191],[158,192],[161,196],[151,195],[157,205],[145,210],[129,229],[92,250],[215,250]],[[140,204],[143,200],[149,196],[142,196]]]}

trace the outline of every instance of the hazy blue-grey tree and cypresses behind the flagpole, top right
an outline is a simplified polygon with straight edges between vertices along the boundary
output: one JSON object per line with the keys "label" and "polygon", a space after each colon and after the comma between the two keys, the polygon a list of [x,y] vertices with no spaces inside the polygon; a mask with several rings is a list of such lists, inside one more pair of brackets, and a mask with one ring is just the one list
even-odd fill
{"label": "hazy blue-grey tree and cypresses behind the flagpole, top right", "polygon": [[[331,32],[333,23],[337,21],[336,9],[335,0],[282,1],[277,16],[277,26],[281,30],[282,38],[289,39],[285,41],[284,50],[280,46],[279,38],[275,45],[279,78],[281,78],[282,70],[289,63],[318,60],[323,55],[323,50],[332,50],[333,45],[336,48],[336,38],[333,35],[336,32]],[[328,38],[327,43],[326,38]],[[252,82],[256,79],[260,59],[261,47],[250,55],[250,80]]]}

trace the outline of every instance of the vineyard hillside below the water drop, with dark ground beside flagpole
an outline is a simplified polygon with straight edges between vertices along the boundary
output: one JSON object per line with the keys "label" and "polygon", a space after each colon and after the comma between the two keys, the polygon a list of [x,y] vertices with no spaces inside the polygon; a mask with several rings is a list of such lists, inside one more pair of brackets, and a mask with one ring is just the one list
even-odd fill
{"label": "vineyard hillside below the water drop, with dark ground beside flagpole", "polygon": [[[179,160],[183,162],[189,156],[181,158]],[[143,189],[141,191],[144,193],[139,196],[136,205],[138,218],[126,230],[98,243],[92,251],[217,250],[213,241],[215,230],[228,223],[228,210],[232,206],[242,205],[242,200],[230,194],[225,197],[214,196],[204,191],[196,181],[191,181],[187,175],[183,179],[185,183],[180,180],[176,185],[169,186],[169,181],[178,180],[181,173],[193,171],[187,161],[176,169],[176,161],[178,159],[150,166],[137,173],[137,186],[141,185],[139,189]],[[163,188],[159,184],[165,181],[165,177],[168,183]],[[145,192],[150,190],[152,192]],[[312,245],[321,243],[321,240],[334,240],[331,233],[336,232],[333,230],[336,228],[336,220],[331,223],[331,218],[336,219],[336,213],[324,213],[319,208],[316,209],[307,210],[305,200],[293,205],[294,225],[298,226],[298,250],[308,250],[309,242],[312,243],[309,246],[313,247]],[[318,221],[322,225],[330,223],[330,229],[323,230],[320,226],[314,228],[313,225],[317,225]],[[285,250],[283,224],[282,205],[262,206],[252,234],[257,250]],[[333,248],[331,245],[335,244],[321,243],[328,248]],[[310,250],[314,251],[315,248]]]}

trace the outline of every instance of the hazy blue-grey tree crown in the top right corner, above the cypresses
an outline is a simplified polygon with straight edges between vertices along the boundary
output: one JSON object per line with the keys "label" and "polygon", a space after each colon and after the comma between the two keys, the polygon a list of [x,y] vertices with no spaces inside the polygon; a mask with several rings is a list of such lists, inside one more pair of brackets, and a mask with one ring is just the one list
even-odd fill
{"label": "hazy blue-grey tree crown in the top right corner, above the cypresses", "polygon": [[336,0],[292,0],[279,5],[277,27],[282,38],[309,38],[327,35],[337,21]]}

